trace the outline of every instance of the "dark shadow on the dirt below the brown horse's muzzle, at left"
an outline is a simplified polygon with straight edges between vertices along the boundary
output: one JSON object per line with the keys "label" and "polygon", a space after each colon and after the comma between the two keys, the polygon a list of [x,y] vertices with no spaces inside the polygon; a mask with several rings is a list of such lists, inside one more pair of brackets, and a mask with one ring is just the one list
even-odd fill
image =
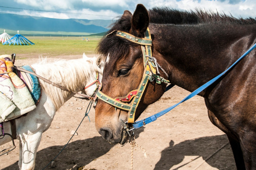
{"label": "dark shadow on the dirt below the brown horse's muzzle, at left", "polygon": [[[145,127],[144,127],[145,128]],[[136,129],[135,137],[137,138],[144,128]],[[48,170],[51,168],[51,162],[65,145],[56,145],[45,148],[36,153],[35,170]],[[76,140],[67,144],[65,149],[54,160],[55,169],[66,170],[83,167],[96,160],[98,157],[108,153],[115,146],[108,143],[102,136],[94,136],[84,140]],[[49,165],[48,165],[49,164]],[[47,166],[48,165],[48,166]],[[46,167],[47,166],[47,167]],[[18,161],[2,170],[18,170]]]}

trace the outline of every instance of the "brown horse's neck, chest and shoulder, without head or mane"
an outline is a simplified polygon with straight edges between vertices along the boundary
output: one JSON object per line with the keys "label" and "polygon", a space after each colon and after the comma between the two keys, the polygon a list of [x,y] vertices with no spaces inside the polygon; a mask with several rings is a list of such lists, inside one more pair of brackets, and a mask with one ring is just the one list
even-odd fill
{"label": "brown horse's neck, chest and shoulder, without head or mane", "polygon": [[[205,30],[209,30],[210,26],[206,26]],[[173,32],[179,30],[179,26],[172,27],[175,27]],[[244,28],[241,29],[242,27]],[[237,26],[237,28],[232,29],[238,31],[217,29],[215,33],[212,32],[207,36],[204,36],[204,33],[202,37],[196,36],[195,42],[186,37],[179,37],[180,40],[171,40],[170,38],[168,41],[173,42],[171,43],[173,46],[170,52],[165,53],[170,54],[170,57],[167,57],[167,55],[165,57],[167,63],[171,64],[168,67],[164,63],[160,64],[171,75],[170,81],[192,92],[226,70],[250,46],[256,43],[255,27],[254,30],[252,28],[248,29],[246,26]],[[180,34],[186,32],[185,29],[184,33]],[[196,32],[199,31],[196,30]],[[221,32],[220,34],[223,34],[223,36],[215,37],[218,32]],[[155,37],[158,37],[157,34],[155,34]],[[204,39],[215,40],[215,42],[208,44],[205,43]],[[182,41],[191,43],[182,45],[184,43]],[[154,48],[161,49],[158,46],[154,46]],[[164,47],[162,49],[164,50]],[[161,61],[161,59],[157,60]],[[200,93],[201,96],[205,97],[210,120],[228,135],[234,153],[239,152],[235,156],[238,169],[243,169],[243,159],[250,162],[247,167],[256,167],[256,162],[250,161],[253,154],[256,153],[256,148],[253,147],[256,139],[256,108],[253,103],[256,102],[256,96],[252,95],[256,92],[254,87],[255,71],[256,52],[252,51],[221,81],[214,83],[214,85]]]}

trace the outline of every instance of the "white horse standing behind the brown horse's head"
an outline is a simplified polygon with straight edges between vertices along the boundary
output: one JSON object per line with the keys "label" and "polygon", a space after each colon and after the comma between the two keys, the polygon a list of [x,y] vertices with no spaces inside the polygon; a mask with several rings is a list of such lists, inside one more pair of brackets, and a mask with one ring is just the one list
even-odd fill
{"label": "white horse standing behind the brown horse's head", "polygon": [[[102,79],[103,61],[101,57],[82,59],[58,60],[53,63],[41,62],[31,65],[35,73],[50,81],[66,87],[70,91],[64,91],[40,80],[42,96],[36,109],[15,119],[17,139],[19,139],[20,170],[34,170],[36,152],[43,132],[51,125],[56,111],[75,93],[82,91],[87,95],[93,95],[96,84],[90,85],[99,73]],[[85,86],[89,86],[84,89]],[[72,91],[72,92],[71,92]],[[10,122],[3,123],[4,132],[11,134]],[[0,139],[0,145],[10,141],[10,137]],[[8,140],[7,140],[8,139]]]}

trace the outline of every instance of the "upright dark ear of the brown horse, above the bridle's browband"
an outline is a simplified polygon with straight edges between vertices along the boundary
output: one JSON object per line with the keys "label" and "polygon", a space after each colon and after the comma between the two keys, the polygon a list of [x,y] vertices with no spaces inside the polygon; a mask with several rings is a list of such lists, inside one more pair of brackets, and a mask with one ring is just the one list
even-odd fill
{"label": "upright dark ear of the brown horse, above the bridle's browband", "polygon": [[149,14],[142,4],[138,4],[131,20],[132,29],[138,34],[143,34],[149,25]]}

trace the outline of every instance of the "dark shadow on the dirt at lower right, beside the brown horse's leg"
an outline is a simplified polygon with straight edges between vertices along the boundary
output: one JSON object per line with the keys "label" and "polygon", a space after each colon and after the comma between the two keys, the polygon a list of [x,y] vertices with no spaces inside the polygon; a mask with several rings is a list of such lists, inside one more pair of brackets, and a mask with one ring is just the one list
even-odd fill
{"label": "dark shadow on the dirt at lower right, beside the brown horse's leg", "polygon": [[[230,144],[225,145],[227,142],[228,139],[226,135],[200,137],[193,140],[186,140],[179,144],[174,144],[171,140],[169,147],[162,151],[161,159],[155,164],[154,170],[179,170],[182,169],[182,167],[184,169],[186,165],[186,167],[188,167],[190,162],[198,162],[197,159],[200,157],[206,161],[204,163],[218,170],[236,170]],[[212,155],[223,145],[225,145],[225,147],[223,147],[221,151]],[[211,155],[212,157],[208,159]],[[194,156],[195,158],[179,165],[184,160],[185,156]],[[202,162],[203,161],[201,161],[201,163]],[[198,166],[201,163],[199,163]],[[174,169],[171,169],[172,167]]]}

